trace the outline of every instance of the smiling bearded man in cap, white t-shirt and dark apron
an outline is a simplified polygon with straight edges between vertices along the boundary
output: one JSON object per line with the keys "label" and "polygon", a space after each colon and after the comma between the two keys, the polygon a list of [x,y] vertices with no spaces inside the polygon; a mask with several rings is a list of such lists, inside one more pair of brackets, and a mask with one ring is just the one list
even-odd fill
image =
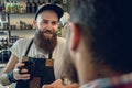
{"label": "smiling bearded man in cap, white t-shirt and dark apron", "polygon": [[[56,4],[45,4],[37,10],[35,14],[35,20],[33,21],[34,26],[36,26],[34,37],[20,38],[11,47],[12,55],[1,76],[1,84],[3,86],[10,85],[11,82],[16,82],[15,88],[41,88],[43,84],[52,82],[54,80],[54,75],[55,79],[61,78],[63,72],[62,50],[65,45],[65,40],[62,37],[57,37],[56,33],[58,30],[59,19],[63,16],[63,9]],[[35,64],[35,68],[33,69],[35,72],[29,73],[29,70],[32,70],[32,67],[29,69],[24,67],[25,63],[23,63],[23,56],[32,58],[33,65]],[[38,58],[53,58],[54,63],[53,59],[41,59],[43,63],[37,62]],[[34,59],[37,63],[35,63]],[[44,70],[44,73],[40,77],[42,78],[41,86],[36,87],[36,81],[38,81],[40,79],[33,79],[33,76],[40,76],[40,68],[44,66],[44,63],[48,66],[53,65],[54,70],[51,67],[41,69],[42,72]],[[50,79],[48,77],[51,77],[52,79]],[[28,82],[25,82],[26,80]],[[18,82],[24,84],[21,84],[19,86]]]}

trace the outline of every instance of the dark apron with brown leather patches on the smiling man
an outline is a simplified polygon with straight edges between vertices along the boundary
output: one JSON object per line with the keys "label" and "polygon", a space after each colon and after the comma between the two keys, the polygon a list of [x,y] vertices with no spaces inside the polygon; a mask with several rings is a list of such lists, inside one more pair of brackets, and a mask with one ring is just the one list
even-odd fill
{"label": "dark apron with brown leather patches on the smiling man", "polygon": [[28,53],[33,43],[33,40],[29,44],[29,47],[23,57],[25,65],[31,65],[29,67],[31,72],[30,80],[18,80],[15,88],[42,88],[44,84],[51,84],[55,80],[54,76],[54,62],[52,59],[52,53],[50,53],[48,58],[33,58],[28,57]]}

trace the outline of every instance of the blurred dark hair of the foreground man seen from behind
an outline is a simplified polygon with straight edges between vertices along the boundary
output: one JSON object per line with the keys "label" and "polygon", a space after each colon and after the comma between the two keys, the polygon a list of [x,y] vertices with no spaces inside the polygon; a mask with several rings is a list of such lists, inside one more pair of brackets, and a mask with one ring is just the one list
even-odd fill
{"label": "blurred dark hair of the foreground man seen from behind", "polygon": [[76,23],[95,57],[119,73],[132,72],[131,0],[73,0]]}

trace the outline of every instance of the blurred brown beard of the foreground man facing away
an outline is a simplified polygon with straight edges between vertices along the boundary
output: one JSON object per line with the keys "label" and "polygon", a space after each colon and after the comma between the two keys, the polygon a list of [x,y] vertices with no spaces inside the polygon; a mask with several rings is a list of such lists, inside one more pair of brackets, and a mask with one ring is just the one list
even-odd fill
{"label": "blurred brown beard of the foreground man facing away", "polygon": [[72,61],[72,56],[68,51],[68,45],[64,52],[64,76],[72,80],[73,82],[78,82],[78,75],[75,68],[75,64]]}

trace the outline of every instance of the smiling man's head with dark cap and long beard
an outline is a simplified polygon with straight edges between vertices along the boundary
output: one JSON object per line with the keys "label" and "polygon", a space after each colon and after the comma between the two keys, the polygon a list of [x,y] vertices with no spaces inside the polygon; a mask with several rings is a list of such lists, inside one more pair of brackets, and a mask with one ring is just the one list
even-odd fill
{"label": "smiling man's head with dark cap and long beard", "polygon": [[34,25],[36,33],[34,42],[41,52],[53,52],[57,44],[57,30],[63,9],[55,4],[42,6],[36,12]]}

